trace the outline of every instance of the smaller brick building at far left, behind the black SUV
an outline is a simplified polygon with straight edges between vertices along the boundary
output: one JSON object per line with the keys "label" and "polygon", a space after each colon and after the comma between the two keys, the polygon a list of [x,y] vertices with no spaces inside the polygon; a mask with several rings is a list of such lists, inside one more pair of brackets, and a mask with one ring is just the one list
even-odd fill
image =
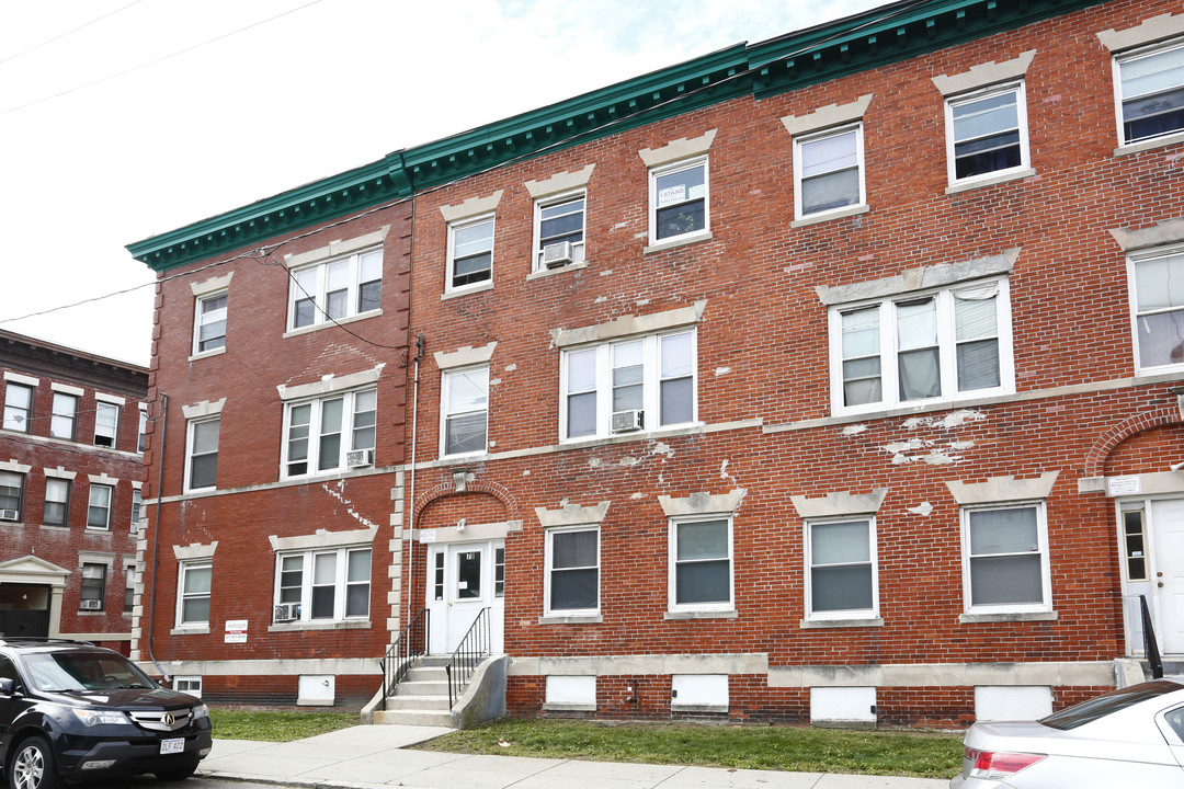
{"label": "smaller brick building at far left, behind the black SUV", "polygon": [[0,331],[0,634],[128,654],[148,370]]}

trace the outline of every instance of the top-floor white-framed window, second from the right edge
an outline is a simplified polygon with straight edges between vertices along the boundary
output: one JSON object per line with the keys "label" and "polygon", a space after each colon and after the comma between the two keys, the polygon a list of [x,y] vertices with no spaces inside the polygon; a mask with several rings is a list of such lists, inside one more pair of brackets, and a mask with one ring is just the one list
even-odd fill
{"label": "top-floor white-framed window, second from the right edge", "polygon": [[1028,167],[1022,85],[991,88],[946,102],[950,182]]}

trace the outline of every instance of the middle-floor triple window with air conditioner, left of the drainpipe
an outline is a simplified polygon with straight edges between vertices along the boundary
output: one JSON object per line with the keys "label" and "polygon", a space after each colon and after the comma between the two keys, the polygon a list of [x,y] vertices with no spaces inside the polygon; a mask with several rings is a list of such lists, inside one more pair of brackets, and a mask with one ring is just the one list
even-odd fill
{"label": "middle-floor triple window with air conditioner, left of the drainpipe", "polygon": [[345,468],[347,452],[373,450],[377,408],[377,389],[289,405],[283,476]]}

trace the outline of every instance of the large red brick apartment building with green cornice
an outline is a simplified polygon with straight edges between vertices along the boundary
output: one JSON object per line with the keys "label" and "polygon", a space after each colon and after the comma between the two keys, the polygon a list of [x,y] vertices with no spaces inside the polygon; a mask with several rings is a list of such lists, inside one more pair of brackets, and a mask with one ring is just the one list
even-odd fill
{"label": "large red brick apartment building with green cornice", "polygon": [[856,724],[1126,683],[1140,597],[1184,659],[1182,143],[1175,4],[897,2],[134,244],[137,654],[337,701],[485,609],[515,714]]}

